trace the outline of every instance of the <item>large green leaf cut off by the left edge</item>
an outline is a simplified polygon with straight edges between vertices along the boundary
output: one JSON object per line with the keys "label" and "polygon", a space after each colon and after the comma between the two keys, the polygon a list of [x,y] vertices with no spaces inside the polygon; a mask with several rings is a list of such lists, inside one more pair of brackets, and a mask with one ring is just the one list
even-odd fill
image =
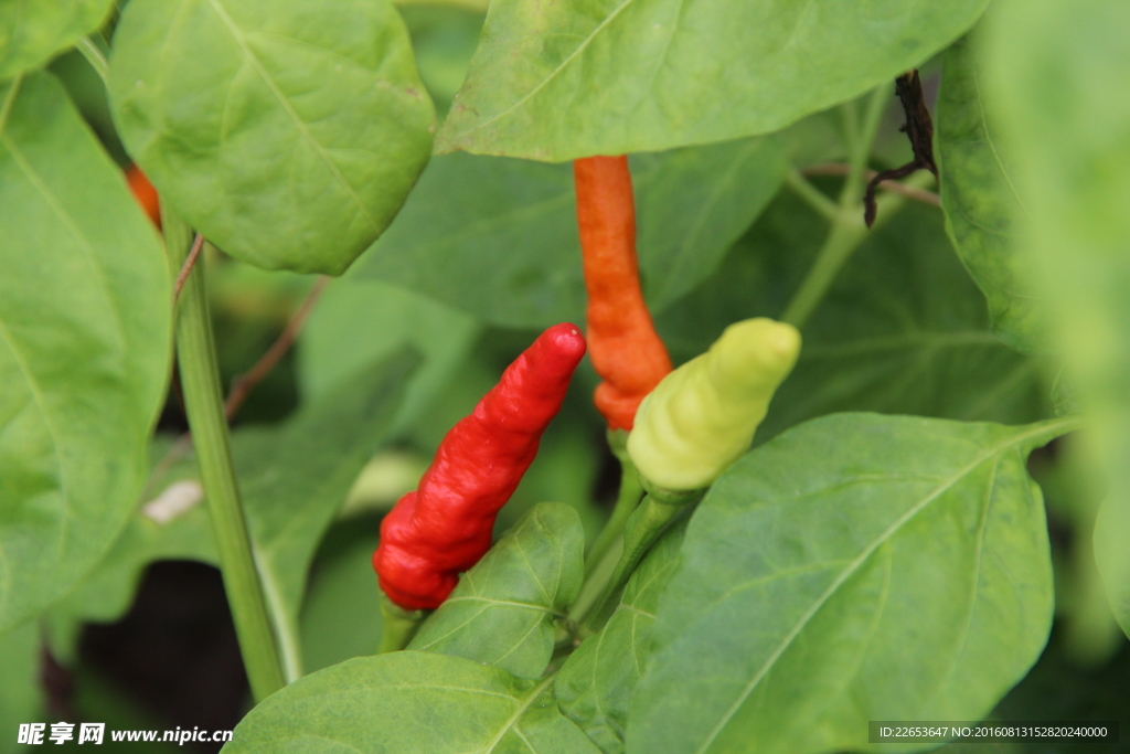
{"label": "large green leaf cut off by the left edge", "polygon": [[168,269],[46,73],[0,85],[0,631],[125,525],[167,379]]}

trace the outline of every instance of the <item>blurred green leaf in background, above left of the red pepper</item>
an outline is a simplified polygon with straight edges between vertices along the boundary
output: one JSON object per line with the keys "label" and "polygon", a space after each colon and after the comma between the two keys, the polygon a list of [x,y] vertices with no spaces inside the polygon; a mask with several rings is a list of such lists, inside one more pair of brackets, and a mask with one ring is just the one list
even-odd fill
{"label": "blurred green leaf in background, above left of the red pepper", "polygon": [[425,362],[405,397],[394,432],[401,431],[451,378],[478,331],[466,314],[380,280],[333,280],[299,340],[304,398],[316,400],[374,361],[412,346]]}

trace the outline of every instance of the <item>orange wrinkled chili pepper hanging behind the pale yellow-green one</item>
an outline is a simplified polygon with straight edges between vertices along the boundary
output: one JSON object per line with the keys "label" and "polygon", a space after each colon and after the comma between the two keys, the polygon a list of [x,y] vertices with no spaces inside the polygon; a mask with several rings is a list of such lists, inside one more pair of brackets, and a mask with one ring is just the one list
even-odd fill
{"label": "orange wrinkled chili pepper hanging behind the pale yellow-green one", "polygon": [[671,371],[671,359],[640,287],[628,159],[577,159],[573,179],[589,294],[589,354],[603,379],[593,402],[609,430],[631,430],[640,402]]}

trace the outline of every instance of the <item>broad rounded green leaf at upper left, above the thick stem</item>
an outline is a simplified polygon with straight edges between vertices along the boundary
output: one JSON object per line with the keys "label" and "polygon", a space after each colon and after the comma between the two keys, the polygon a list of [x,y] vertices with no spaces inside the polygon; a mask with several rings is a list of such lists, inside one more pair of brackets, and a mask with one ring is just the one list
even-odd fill
{"label": "broad rounded green leaf at upper left, above the thick stem", "polygon": [[340,274],[427,162],[434,111],[386,0],[149,0],[114,34],[118,129],[224,251]]}

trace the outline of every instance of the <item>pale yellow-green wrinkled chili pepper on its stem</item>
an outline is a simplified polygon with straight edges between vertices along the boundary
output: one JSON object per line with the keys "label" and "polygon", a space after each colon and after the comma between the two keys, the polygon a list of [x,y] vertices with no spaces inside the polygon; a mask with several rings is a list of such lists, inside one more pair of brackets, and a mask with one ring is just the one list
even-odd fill
{"label": "pale yellow-green wrinkled chili pepper on its stem", "polygon": [[710,486],[749,448],[799,353],[791,324],[758,318],[727,328],[640,406],[627,448],[641,477],[663,491]]}

